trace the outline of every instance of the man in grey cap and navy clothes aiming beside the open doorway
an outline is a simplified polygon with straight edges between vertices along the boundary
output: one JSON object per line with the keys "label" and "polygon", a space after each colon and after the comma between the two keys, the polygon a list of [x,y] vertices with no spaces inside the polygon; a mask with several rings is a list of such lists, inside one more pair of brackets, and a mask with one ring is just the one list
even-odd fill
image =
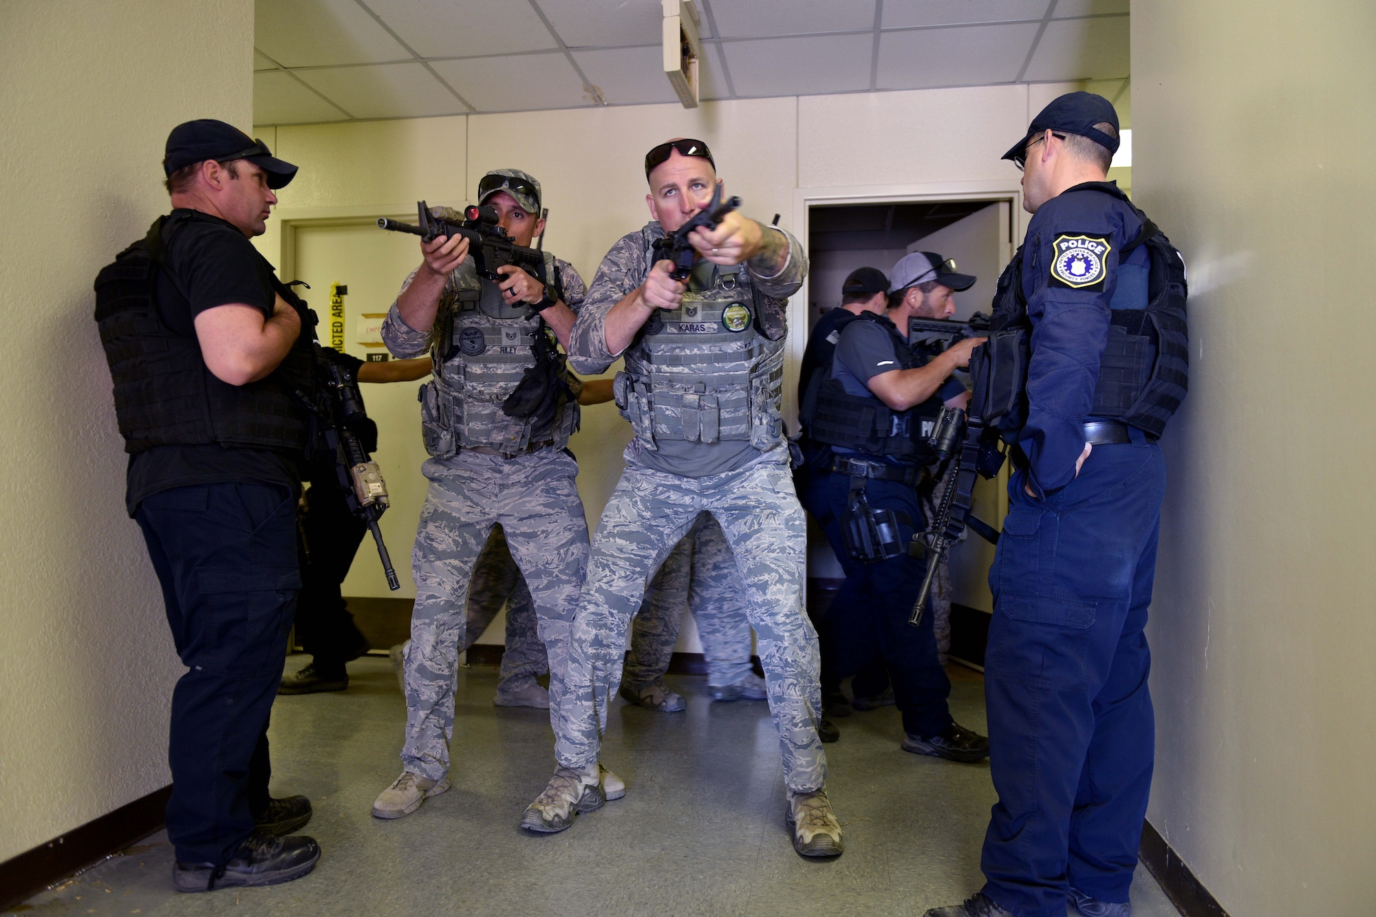
{"label": "man in grey cap and navy clothes aiming beside the open doorway", "polygon": [[[908,624],[926,560],[907,554],[914,531],[925,527],[919,489],[930,487],[925,467],[936,461],[927,438],[943,406],[966,405],[969,392],[951,373],[982,340],[915,351],[908,318],[948,318],[952,291],[969,289],[974,277],[929,252],[907,255],[890,277],[889,308],[846,322],[830,368],[820,383],[813,375],[799,409],[809,438],[830,453],[813,456],[809,489],[815,504],[824,500],[813,515],[846,571],[819,626],[821,682],[837,686],[882,661],[903,713],[903,750],[978,761],[988,741],[951,717],[951,682],[937,660],[932,615],[921,626]],[[881,529],[883,544],[854,537]]]}

